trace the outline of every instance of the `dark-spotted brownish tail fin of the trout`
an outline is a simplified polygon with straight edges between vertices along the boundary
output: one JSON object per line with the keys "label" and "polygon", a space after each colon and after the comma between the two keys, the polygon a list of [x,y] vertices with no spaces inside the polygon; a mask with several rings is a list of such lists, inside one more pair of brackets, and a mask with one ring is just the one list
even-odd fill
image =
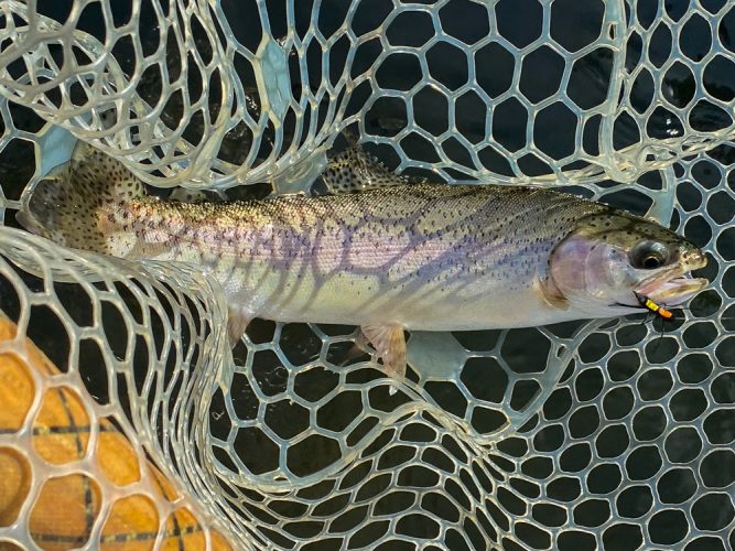
{"label": "dark-spotted brownish tail fin of the trout", "polygon": [[108,234],[99,227],[99,214],[144,195],[141,181],[119,161],[79,144],[68,163],[36,184],[17,219],[58,245],[106,252]]}

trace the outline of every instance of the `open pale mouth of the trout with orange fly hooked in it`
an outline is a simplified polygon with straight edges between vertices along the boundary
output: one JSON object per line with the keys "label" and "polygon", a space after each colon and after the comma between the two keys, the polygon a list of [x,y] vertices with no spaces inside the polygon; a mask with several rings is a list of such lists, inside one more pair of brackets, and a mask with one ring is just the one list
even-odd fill
{"label": "open pale mouth of the trout with orange fly hooked in it", "polygon": [[663,270],[646,279],[634,289],[634,292],[636,295],[646,296],[653,302],[667,306],[677,306],[687,302],[710,284],[704,278],[692,278],[689,274],[689,271],[704,268],[706,263],[706,257],[703,253],[693,255],[680,266]]}

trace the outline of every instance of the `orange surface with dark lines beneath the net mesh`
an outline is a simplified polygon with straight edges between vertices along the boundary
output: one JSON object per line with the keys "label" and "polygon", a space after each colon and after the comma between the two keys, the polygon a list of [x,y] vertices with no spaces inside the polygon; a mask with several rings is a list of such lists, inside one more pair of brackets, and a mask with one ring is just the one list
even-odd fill
{"label": "orange surface with dark lines beneath the net mesh", "polygon": [[[12,341],[15,331],[0,316],[0,345]],[[139,457],[115,424],[107,419],[90,421],[85,403],[93,403],[93,398],[86,389],[54,382],[61,371],[28,338],[14,343],[19,347],[25,348],[26,358],[8,352],[13,347],[0,349],[0,551],[22,549],[8,536],[19,521],[28,521],[35,544],[50,550],[79,548],[93,537],[95,549],[148,550],[156,540],[160,549],[204,549],[207,536],[212,549],[231,549],[223,534],[203,527],[187,507],[175,506],[179,496],[171,482]],[[34,380],[48,383],[36,408]],[[32,409],[36,411],[32,425],[22,433]],[[74,468],[63,475],[34,473],[34,462],[74,467],[87,454],[93,433],[98,466],[94,474]],[[88,463],[79,465],[83,471]],[[136,484],[141,465],[153,480],[152,493],[142,493]],[[101,486],[115,488],[109,508],[102,507]],[[35,499],[26,504],[36,487]],[[93,533],[102,509],[107,515],[101,532]],[[163,522],[160,511],[166,511]]]}

